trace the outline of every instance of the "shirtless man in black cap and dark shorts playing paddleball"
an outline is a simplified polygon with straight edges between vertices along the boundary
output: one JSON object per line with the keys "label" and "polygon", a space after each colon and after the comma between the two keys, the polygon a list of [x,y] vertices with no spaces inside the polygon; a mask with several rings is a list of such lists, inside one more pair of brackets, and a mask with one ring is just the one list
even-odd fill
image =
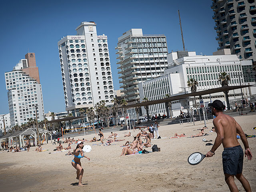
{"label": "shirtless man in black cap and dark shorts playing paddleball", "polygon": [[[251,192],[248,180],[242,174],[243,156],[247,156],[248,160],[252,159],[247,138],[241,126],[234,120],[234,118],[223,114],[226,108],[220,100],[215,100],[209,103],[208,106],[212,108],[212,114],[216,116],[213,120],[214,128],[217,137],[212,149],[206,154],[206,157],[212,157],[217,148],[222,144],[224,151],[222,152],[222,164],[225,175],[225,181],[231,192],[238,192],[238,188],[234,182],[234,176],[241,182],[246,192]],[[239,134],[244,144],[244,154],[240,146],[236,134]]]}

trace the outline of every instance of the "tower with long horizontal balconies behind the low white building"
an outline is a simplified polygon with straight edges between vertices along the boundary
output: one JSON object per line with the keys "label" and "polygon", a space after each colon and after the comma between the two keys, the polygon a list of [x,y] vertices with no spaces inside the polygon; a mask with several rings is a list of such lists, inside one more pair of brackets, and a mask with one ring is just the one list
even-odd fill
{"label": "tower with long horizontal balconies behind the low white building", "polygon": [[166,36],[131,29],[118,38],[116,49],[120,88],[128,102],[136,102],[140,99],[139,82],[155,78],[167,68]]}

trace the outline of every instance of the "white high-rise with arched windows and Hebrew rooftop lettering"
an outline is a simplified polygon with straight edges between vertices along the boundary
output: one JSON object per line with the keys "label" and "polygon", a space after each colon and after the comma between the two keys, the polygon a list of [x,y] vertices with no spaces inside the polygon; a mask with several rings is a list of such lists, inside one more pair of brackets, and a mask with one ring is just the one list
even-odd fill
{"label": "white high-rise with arched windows and Hebrew rooftop lettering", "polygon": [[101,100],[112,105],[114,87],[108,37],[97,35],[96,23],[82,22],[77,35],[58,42],[66,110],[79,116],[79,108],[93,107]]}

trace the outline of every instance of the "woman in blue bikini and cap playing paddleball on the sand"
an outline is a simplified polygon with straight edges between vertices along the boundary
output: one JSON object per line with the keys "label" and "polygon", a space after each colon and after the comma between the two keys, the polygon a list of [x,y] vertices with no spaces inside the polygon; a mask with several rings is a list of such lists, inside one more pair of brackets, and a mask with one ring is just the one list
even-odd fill
{"label": "woman in blue bikini and cap playing paddleball on the sand", "polygon": [[84,145],[82,141],[77,142],[76,149],[74,150],[74,159],[72,160],[71,164],[72,166],[76,169],[76,179],[78,179],[78,186],[83,186],[82,185],[82,177],[84,174],[84,169],[82,168],[80,158],[87,158],[90,161],[90,158],[84,156],[84,152],[82,151]]}

